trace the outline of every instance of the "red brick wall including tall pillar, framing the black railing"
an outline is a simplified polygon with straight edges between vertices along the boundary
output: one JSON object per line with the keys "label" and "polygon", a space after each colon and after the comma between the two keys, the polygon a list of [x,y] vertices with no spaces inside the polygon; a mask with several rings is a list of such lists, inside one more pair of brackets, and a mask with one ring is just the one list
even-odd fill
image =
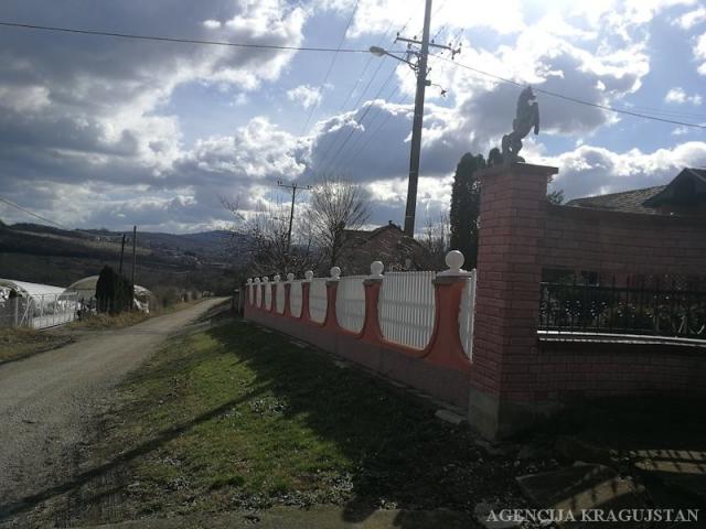
{"label": "red brick wall including tall pillar, framing the black railing", "polygon": [[545,269],[614,274],[706,270],[706,227],[695,219],[555,206],[554,168],[480,172],[481,217],[469,418],[485,435],[514,433],[576,398],[706,397],[706,348],[539,339]]}

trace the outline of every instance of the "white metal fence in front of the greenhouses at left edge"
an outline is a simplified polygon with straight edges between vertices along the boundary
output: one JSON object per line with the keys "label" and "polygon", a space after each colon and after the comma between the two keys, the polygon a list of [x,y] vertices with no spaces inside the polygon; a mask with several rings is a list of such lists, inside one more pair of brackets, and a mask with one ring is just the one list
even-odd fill
{"label": "white metal fence in front of the greenhouses at left edge", "polygon": [[73,322],[79,310],[76,292],[8,298],[0,300],[0,326],[53,327]]}

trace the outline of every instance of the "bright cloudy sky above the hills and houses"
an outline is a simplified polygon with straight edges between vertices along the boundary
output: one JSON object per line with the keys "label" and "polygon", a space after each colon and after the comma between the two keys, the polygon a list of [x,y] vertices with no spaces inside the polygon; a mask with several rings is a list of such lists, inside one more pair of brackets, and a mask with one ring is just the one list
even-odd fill
{"label": "bright cloudy sky above the hills and houses", "polygon": [[[295,47],[403,51],[422,0],[3,0],[0,21]],[[706,125],[697,0],[434,0],[417,230],[448,210],[466,152],[512,129],[520,85]],[[0,26],[0,197],[69,228],[192,233],[288,201],[278,181],[360,183],[403,223],[415,74],[370,53],[207,46]],[[474,68],[474,69],[470,69]],[[485,74],[479,73],[482,71]],[[495,76],[495,77],[493,77]],[[441,90],[446,90],[446,96]],[[523,156],[566,198],[706,165],[706,131],[538,93]],[[307,208],[299,195],[298,214]],[[6,223],[36,222],[0,203]]]}

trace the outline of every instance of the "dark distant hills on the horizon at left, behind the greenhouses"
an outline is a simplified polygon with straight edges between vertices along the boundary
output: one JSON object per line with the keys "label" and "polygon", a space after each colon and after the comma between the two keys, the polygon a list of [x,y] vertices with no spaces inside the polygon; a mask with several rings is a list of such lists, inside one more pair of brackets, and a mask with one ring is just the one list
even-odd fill
{"label": "dark distant hills on the horizon at left, behind the greenhouses", "polygon": [[[128,234],[131,237],[132,234]],[[104,264],[116,269],[121,231],[65,230],[38,224],[0,223],[0,278],[67,287],[94,276]],[[199,234],[137,234],[137,282],[148,289],[229,292],[235,284],[243,236],[214,230]],[[126,245],[124,273],[129,276],[132,246]],[[236,256],[236,258],[229,257]]]}

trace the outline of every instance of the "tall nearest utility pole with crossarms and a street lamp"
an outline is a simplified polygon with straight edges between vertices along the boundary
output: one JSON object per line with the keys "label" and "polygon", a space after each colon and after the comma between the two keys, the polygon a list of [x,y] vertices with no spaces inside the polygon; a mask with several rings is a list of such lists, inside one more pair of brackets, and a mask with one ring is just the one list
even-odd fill
{"label": "tall nearest utility pole with crossarms and a street lamp", "polygon": [[[429,42],[429,28],[431,25],[431,0],[426,0],[424,10],[424,30],[421,33],[421,41],[416,39],[405,39],[397,34],[395,42],[402,41],[407,43],[407,56],[398,57],[393,55],[386,50],[379,46],[372,46],[371,53],[378,57],[385,55],[407,63],[411,69],[417,73],[417,94],[415,96],[415,116],[411,125],[411,145],[409,151],[409,182],[407,183],[407,206],[405,208],[405,235],[414,237],[415,235],[415,214],[417,209],[417,182],[419,181],[419,154],[421,153],[421,126],[424,120],[424,97],[427,86],[431,85],[431,82],[427,79],[429,68],[427,62],[429,58],[429,46],[447,50],[451,52],[451,58],[457,53],[461,52],[461,48],[453,48],[450,44],[436,44],[434,41]],[[419,51],[413,50],[413,45],[418,45]],[[415,56],[416,62],[410,61],[410,57]],[[441,94],[446,94],[446,90],[441,90]]]}

